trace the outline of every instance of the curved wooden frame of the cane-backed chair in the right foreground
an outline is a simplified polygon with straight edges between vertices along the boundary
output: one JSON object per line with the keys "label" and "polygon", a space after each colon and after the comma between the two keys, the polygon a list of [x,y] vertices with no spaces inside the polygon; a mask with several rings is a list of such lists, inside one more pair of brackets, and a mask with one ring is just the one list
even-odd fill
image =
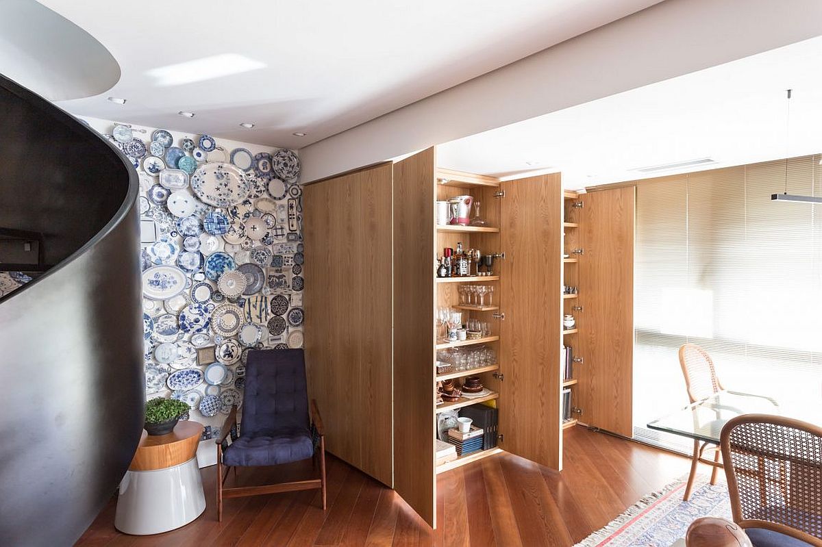
{"label": "curved wooden frame of the cane-backed chair in the right foreground", "polygon": [[[765,530],[775,531],[780,534],[784,534],[785,536],[794,537],[797,540],[806,542],[808,545],[811,545],[812,547],[822,547],[822,538],[810,536],[810,534],[807,534],[806,532],[801,530],[797,530],[796,528],[792,528],[791,526],[787,526],[785,524],[781,524],[778,522],[761,521],[757,519],[746,519],[743,517],[741,497],[739,494],[739,484],[737,482],[737,472],[742,472],[743,470],[735,469],[732,464],[733,460],[731,452],[731,432],[738,425],[751,423],[782,425],[787,428],[806,431],[810,434],[815,434],[817,436],[822,437],[822,427],[809,424],[804,421],[786,418],[784,416],[774,416],[770,414],[745,414],[742,416],[737,416],[736,418],[732,418],[731,420],[727,421],[727,424],[724,425],[722,434],[720,436],[719,446],[720,448],[722,448],[723,460],[728,464],[725,467],[725,476],[727,477],[728,494],[730,494],[731,496],[731,512],[733,515],[733,522],[736,522],[743,529],[764,528]],[[764,473],[763,467],[764,457],[760,457],[760,471],[745,471],[752,473],[755,476],[758,476],[761,481],[766,481],[768,479]],[[787,481],[786,477],[787,471],[783,467],[782,473],[780,473],[780,480]]]}

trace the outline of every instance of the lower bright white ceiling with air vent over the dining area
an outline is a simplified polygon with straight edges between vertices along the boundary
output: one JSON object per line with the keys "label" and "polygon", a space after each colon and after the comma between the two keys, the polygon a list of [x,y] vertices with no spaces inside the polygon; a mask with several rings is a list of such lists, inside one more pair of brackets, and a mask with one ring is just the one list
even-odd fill
{"label": "lower bright white ceiling with air vent over the dining area", "polygon": [[501,177],[561,171],[566,188],[582,188],[695,171],[633,170],[694,159],[715,159],[709,169],[818,153],[820,61],[822,37],[809,39],[453,140],[437,164]]}

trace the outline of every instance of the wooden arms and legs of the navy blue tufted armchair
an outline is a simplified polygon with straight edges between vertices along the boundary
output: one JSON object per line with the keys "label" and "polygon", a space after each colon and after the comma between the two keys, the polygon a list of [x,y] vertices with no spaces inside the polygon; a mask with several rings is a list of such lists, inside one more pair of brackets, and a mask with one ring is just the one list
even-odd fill
{"label": "wooden arms and legs of the navy blue tufted armchair", "polygon": [[[223,463],[223,441],[231,432],[233,426],[237,424],[237,406],[231,407],[229,416],[225,419],[223,429],[220,430],[219,439],[217,440],[217,520],[223,520],[223,499],[224,498],[242,498],[244,496],[256,496],[262,494],[276,494],[278,492],[293,492],[295,490],[322,490],[322,510],[326,510],[326,437],[323,432],[322,418],[320,411],[316,407],[316,400],[312,399],[309,406],[311,412],[311,420],[317,434],[320,435],[320,444],[318,449],[314,450],[312,456],[313,467],[316,468],[317,459],[320,460],[320,476],[316,479],[295,480],[292,482],[281,482],[273,485],[260,486],[238,486],[233,488],[224,488],[226,478],[229,476],[229,469],[232,466],[226,466]],[[225,468],[225,471],[223,471]],[[233,466],[234,478],[237,478],[237,466]]]}

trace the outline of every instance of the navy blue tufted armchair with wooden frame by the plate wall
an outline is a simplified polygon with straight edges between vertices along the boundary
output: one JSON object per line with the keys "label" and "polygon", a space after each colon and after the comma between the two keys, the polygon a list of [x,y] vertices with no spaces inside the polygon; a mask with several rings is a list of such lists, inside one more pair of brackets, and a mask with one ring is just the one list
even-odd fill
{"label": "navy blue tufted armchair with wooden frame by the plate wall", "polygon": [[[309,411],[305,357],[301,349],[248,352],[240,435],[237,407],[232,407],[217,443],[217,516],[223,518],[223,499],[291,490],[322,489],[326,509],[326,444],[322,421],[311,402]],[[232,434],[233,443],[226,437]],[[275,466],[316,457],[320,477],[275,485],[224,488],[230,467]],[[316,460],[315,460],[316,464]]]}

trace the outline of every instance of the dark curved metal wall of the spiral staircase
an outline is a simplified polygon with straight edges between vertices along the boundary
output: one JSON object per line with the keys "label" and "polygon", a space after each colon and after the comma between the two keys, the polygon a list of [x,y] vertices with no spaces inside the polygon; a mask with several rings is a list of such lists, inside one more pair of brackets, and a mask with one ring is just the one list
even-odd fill
{"label": "dark curved metal wall of the spiral staircase", "polygon": [[0,545],[72,545],[140,439],[137,184],[109,142],[0,76],[0,228],[42,234],[45,263],[0,298]]}

